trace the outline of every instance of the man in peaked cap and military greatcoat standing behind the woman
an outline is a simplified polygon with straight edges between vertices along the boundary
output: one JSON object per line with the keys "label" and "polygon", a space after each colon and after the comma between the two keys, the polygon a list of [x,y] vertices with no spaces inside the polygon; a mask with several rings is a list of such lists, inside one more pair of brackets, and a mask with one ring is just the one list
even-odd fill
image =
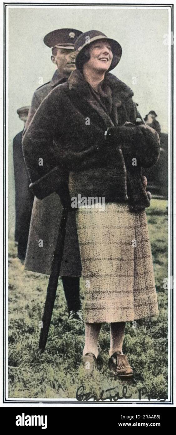
{"label": "man in peaked cap and military greatcoat standing behind the woman", "polygon": [[[50,82],[42,85],[34,92],[26,128],[46,95],[48,95],[55,86],[67,81],[69,75],[75,69],[75,60],[72,60],[69,55],[73,52],[75,40],[81,33],[81,31],[75,29],[59,29],[48,33],[44,37],[44,43],[52,48],[51,60],[53,64],[57,65],[57,70],[55,70]],[[42,162],[39,164],[42,164]],[[25,269],[50,274],[61,216],[62,204],[59,195],[53,193],[43,200],[39,200],[35,197]],[[69,320],[76,319],[82,321],[79,297],[81,258],[75,214],[72,212],[68,213],[60,276],[62,277],[65,298],[68,305],[68,318]]]}

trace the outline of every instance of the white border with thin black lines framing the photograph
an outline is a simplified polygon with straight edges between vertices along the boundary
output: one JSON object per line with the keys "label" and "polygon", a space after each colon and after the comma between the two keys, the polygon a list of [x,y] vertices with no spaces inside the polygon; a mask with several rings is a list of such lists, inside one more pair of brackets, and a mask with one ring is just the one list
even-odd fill
{"label": "white border with thin black lines framing the photograph", "polygon": [[[9,403],[9,404],[25,404],[25,403],[31,403],[31,404],[114,404],[114,405],[131,405],[135,404],[137,405],[173,405],[173,206],[174,206],[174,198],[173,198],[173,183],[174,183],[174,174],[173,174],[173,60],[174,60],[174,54],[173,54],[173,44],[170,45],[170,59],[169,59],[169,53],[168,53],[168,66],[170,74],[168,75],[169,79],[169,86],[168,86],[168,96],[170,96],[170,100],[168,99],[169,103],[169,121],[170,121],[170,135],[168,136],[168,148],[169,148],[169,164],[168,164],[168,173],[169,173],[169,196],[168,196],[168,242],[169,242],[169,250],[168,250],[168,261],[169,261],[169,267],[168,267],[168,278],[169,278],[169,286],[168,286],[168,294],[169,294],[169,304],[168,304],[168,332],[169,332],[169,358],[168,358],[168,370],[169,370],[169,376],[168,376],[168,398],[166,400],[161,399],[156,400],[139,400],[139,399],[131,399],[129,400],[119,400],[117,402],[110,402],[110,401],[99,401],[99,402],[93,402],[93,401],[85,401],[85,402],[79,402],[74,399],[45,399],[45,398],[24,398],[24,399],[18,399],[18,398],[8,398],[8,304],[7,304],[7,297],[8,297],[8,134],[7,134],[7,128],[8,128],[8,117],[7,117],[7,107],[8,107],[8,68],[7,68],[7,48],[8,48],[8,39],[7,39],[7,9],[8,7],[47,7],[52,6],[53,8],[56,7],[117,7],[117,6],[123,6],[124,8],[130,8],[130,6],[135,7],[143,7],[143,8],[160,8],[160,7],[167,7],[170,11],[170,32],[171,35],[173,35],[173,3],[172,4],[162,4],[162,3],[3,3],[3,403]],[[172,39],[173,40],[173,39]],[[170,62],[170,64],[169,64]],[[170,92],[169,92],[170,90]],[[170,319],[170,320],[169,320]]]}

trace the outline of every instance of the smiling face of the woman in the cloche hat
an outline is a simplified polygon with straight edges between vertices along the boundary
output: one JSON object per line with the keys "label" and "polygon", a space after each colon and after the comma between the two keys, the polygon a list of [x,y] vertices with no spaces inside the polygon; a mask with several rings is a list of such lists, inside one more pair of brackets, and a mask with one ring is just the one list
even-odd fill
{"label": "smiling face of the woman in the cloche hat", "polygon": [[91,70],[108,71],[113,54],[111,45],[107,40],[98,40],[91,43],[89,48],[90,59],[86,62],[86,67]]}

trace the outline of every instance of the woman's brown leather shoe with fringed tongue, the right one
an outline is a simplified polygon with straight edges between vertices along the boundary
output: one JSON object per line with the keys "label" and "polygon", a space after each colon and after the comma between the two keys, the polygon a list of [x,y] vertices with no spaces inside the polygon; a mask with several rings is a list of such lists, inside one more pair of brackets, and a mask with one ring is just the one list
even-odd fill
{"label": "woman's brown leather shoe with fringed tongue, the right one", "polygon": [[132,378],[134,376],[133,369],[127,360],[126,355],[122,355],[120,352],[114,352],[109,358],[109,368],[120,378]]}

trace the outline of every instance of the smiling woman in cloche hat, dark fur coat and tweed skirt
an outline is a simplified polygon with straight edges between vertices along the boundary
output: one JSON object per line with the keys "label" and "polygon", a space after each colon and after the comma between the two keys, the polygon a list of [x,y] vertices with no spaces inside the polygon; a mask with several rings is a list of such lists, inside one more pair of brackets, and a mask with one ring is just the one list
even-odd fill
{"label": "smiling woman in cloche hat, dark fur coat and tweed skirt", "polygon": [[[82,271],[88,280],[83,361],[96,366],[101,324],[108,322],[109,367],[118,376],[131,377],[122,351],[125,322],[158,314],[145,213],[150,200],[141,166],[156,163],[160,142],[142,124],[132,90],[108,72],[121,53],[120,44],[99,31],[78,37],[76,70],[40,105],[23,150],[36,196],[43,187],[41,177],[48,174],[46,190],[51,193],[54,185],[69,207],[78,194],[105,197],[104,211],[93,205],[76,210]],[[68,176],[64,189],[62,174]]]}

